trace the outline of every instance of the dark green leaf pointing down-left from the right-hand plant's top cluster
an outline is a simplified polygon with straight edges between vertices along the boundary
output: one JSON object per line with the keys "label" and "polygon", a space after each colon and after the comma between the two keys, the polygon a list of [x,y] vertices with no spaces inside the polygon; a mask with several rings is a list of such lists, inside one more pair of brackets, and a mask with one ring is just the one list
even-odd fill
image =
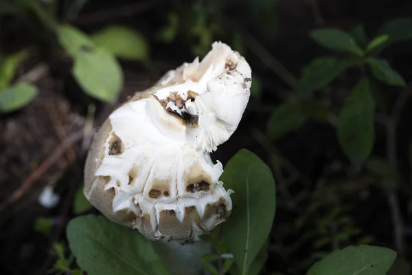
{"label": "dark green leaf pointing down-left from the right-hand plant's top cluster", "polygon": [[308,98],[313,91],[322,88],[350,67],[359,65],[357,61],[334,57],[317,58],[304,69],[299,81],[299,95]]}

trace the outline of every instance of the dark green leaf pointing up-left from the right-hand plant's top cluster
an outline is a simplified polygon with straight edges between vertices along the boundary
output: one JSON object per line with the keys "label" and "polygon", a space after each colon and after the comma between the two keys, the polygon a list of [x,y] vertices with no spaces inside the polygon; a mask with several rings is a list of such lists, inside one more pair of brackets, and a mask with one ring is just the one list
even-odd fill
{"label": "dark green leaf pointing up-left from the right-hand plant's top cluster", "polygon": [[363,50],[356,45],[352,36],[343,30],[324,28],[310,32],[310,36],[319,45],[336,52],[350,52],[363,56]]}

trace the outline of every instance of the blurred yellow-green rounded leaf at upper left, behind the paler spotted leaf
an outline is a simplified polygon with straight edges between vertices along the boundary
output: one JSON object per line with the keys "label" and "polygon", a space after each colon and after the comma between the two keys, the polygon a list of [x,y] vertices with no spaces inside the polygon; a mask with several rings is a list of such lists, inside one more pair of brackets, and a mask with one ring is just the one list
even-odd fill
{"label": "blurred yellow-green rounded leaf at upper left, behind the paler spotted leaf", "polygon": [[92,36],[96,45],[119,58],[142,61],[148,58],[148,43],[143,35],[133,29],[110,25]]}

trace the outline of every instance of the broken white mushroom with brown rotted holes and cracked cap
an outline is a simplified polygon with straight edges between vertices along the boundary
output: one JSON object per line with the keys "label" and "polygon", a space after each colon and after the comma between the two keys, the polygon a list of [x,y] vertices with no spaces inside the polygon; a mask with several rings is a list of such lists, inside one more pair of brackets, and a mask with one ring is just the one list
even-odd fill
{"label": "broken white mushroom with brown rotted holes and cracked cap", "polygon": [[209,153],[238,127],[251,68],[221,42],[167,72],[108,116],[84,168],[84,195],[108,219],[148,239],[192,241],[225,221],[222,164]]}

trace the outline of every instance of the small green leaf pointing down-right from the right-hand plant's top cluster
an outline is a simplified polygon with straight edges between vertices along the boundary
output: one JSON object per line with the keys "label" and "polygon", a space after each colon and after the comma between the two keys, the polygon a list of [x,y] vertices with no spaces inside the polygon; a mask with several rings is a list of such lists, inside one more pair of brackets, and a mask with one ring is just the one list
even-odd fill
{"label": "small green leaf pointing down-right from the right-hand plant's top cluster", "polygon": [[407,85],[402,76],[394,71],[385,59],[368,58],[367,62],[371,65],[372,73],[378,80],[393,86]]}

